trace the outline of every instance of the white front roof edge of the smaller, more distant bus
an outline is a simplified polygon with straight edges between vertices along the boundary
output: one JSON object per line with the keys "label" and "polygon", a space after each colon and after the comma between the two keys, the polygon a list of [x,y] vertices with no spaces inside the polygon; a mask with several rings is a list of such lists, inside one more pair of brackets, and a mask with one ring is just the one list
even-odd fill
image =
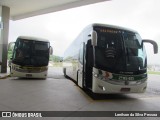
{"label": "white front roof edge of the smaller, more distant bus", "polygon": [[17,39],[27,39],[27,40],[33,40],[33,41],[49,42],[49,40],[47,39],[37,38],[37,37],[32,37],[32,36],[19,36]]}

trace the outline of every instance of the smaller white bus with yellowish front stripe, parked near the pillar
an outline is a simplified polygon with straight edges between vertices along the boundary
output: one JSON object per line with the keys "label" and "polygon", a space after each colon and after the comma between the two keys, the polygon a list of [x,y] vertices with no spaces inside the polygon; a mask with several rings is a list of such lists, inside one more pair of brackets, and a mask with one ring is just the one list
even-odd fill
{"label": "smaller white bus with yellowish front stripe, parked near the pillar", "polygon": [[9,64],[10,75],[45,79],[48,72],[49,55],[53,51],[50,42],[45,39],[20,36],[14,44]]}

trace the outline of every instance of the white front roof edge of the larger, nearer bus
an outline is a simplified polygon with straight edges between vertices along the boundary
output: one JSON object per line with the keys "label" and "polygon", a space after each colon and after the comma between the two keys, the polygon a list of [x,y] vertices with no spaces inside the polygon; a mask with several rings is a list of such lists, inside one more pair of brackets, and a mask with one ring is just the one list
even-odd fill
{"label": "white front roof edge of the larger, nearer bus", "polygon": [[121,27],[121,26],[117,26],[117,25],[109,25],[109,24],[102,24],[102,23],[92,23],[90,25],[88,25],[87,27],[94,27],[94,26],[100,26],[100,27],[109,27],[109,28],[116,28],[116,29],[121,29],[121,30],[126,30],[126,31],[131,31],[131,32],[135,32],[138,33],[137,31],[130,29],[130,28],[125,28],[125,27]]}

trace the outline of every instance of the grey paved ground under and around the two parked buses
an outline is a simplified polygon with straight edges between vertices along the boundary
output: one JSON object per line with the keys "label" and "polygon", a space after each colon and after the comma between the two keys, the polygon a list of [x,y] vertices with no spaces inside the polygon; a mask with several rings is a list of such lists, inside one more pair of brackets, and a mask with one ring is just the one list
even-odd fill
{"label": "grey paved ground under and around the two parked buses", "polygon": [[[46,80],[16,77],[1,79],[0,111],[160,111],[159,86],[160,76],[149,75],[148,88],[143,94],[105,95],[93,100],[71,80],[64,78],[62,68],[50,67]],[[106,120],[103,117],[56,119]],[[110,119],[124,120],[124,117]]]}

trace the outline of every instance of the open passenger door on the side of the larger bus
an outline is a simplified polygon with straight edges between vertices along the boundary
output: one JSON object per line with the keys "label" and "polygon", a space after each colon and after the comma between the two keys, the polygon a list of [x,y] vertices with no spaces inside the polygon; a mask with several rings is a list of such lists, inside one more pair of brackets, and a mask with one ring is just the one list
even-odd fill
{"label": "open passenger door on the side of the larger bus", "polygon": [[84,54],[85,54],[84,47],[85,43],[82,43],[79,51],[79,62],[77,71],[77,84],[81,88],[83,88],[83,82],[84,82]]}

